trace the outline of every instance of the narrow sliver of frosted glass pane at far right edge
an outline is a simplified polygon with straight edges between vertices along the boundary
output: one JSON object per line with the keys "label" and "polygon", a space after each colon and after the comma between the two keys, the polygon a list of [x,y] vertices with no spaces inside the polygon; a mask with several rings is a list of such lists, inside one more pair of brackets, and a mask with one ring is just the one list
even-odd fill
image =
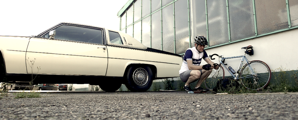
{"label": "narrow sliver of frosted glass pane at far right edge", "polygon": [[289,0],[291,27],[298,25],[298,0]]}

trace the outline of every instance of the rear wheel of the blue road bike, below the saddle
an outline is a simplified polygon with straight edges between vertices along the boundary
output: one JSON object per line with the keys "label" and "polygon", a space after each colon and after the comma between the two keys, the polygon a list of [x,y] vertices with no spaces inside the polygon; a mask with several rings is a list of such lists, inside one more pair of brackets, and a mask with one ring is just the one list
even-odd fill
{"label": "rear wheel of the blue road bike, below the saddle", "polygon": [[271,70],[263,61],[254,60],[244,65],[240,72],[242,85],[247,89],[260,90],[266,87],[271,79]]}

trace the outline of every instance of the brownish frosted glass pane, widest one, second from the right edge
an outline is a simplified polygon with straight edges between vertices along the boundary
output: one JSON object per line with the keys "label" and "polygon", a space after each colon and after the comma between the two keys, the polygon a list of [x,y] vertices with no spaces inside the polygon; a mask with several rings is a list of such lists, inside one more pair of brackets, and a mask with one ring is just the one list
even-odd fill
{"label": "brownish frosted glass pane, widest one, second from the right edge", "polygon": [[258,35],[288,27],[285,0],[255,0]]}

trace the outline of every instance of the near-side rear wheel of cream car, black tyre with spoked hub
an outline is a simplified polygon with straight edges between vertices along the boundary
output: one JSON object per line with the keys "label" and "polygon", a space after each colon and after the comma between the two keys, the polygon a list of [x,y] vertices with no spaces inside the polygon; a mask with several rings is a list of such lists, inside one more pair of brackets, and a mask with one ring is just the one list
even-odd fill
{"label": "near-side rear wheel of cream car, black tyre with spoked hub", "polygon": [[148,66],[132,66],[128,69],[125,86],[133,92],[147,91],[152,85],[152,70]]}

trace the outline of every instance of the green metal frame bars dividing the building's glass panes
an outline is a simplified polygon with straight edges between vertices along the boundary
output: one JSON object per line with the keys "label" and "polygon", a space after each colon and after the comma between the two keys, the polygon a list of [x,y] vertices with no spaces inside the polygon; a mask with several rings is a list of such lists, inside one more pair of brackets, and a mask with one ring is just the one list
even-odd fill
{"label": "green metal frame bars dividing the building's glass panes", "polygon": [[[124,30],[125,29],[125,33],[126,33],[126,28],[127,27],[130,27],[141,21],[141,26],[142,26],[142,20],[146,17],[150,17],[150,47],[152,47],[152,14],[154,14],[155,12],[161,10],[161,37],[162,37],[162,9],[171,5],[173,5],[173,19],[174,19],[174,53],[176,53],[176,28],[175,28],[175,2],[178,1],[178,0],[173,0],[172,2],[169,2],[168,4],[166,4],[165,6],[162,6],[162,0],[160,0],[160,3],[161,3],[161,6],[159,9],[157,9],[156,11],[151,11],[152,10],[152,0],[150,0],[150,14],[146,15],[145,17],[142,17],[142,3],[143,3],[143,0],[141,0],[141,19],[134,22],[134,16],[133,16],[133,23],[130,24],[130,25],[127,25],[127,13],[125,13],[125,27],[121,29],[121,19],[120,18],[120,31]],[[285,4],[286,4],[286,8],[287,8],[287,17],[288,17],[288,25],[289,25],[289,28],[285,28],[285,29],[281,29],[281,30],[278,30],[278,31],[273,31],[273,32],[269,32],[269,33],[265,33],[265,34],[261,34],[261,35],[258,35],[258,29],[257,29],[257,19],[256,19],[256,8],[255,8],[255,0],[252,0],[253,2],[253,17],[254,17],[254,27],[255,27],[255,36],[253,37],[247,37],[247,38],[243,38],[243,39],[239,39],[239,40],[236,40],[236,41],[231,41],[231,31],[230,31],[230,18],[229,18],[229,4],[228,4],[228,1],[229,0],[226,0],[226,11],[227,11],[227,26],[228,26],[228,35],[229,35],[229,42],[226,42],[226,43],[222,43],[222,44],[219,44],[219,45],[215,45],[215,46],[207,46],[205,49],[210,49],[210,48],[214,48],[214,47],[219,47],[219,46],[223,46],[223,45],[227,45],[227,44],[231,44],[231,43],[235,43],[235,42],[240,42],[240,41],[244,41],[244,40],[248,40],[248,39],[253,39],[253,38],[256,38],[256,37],[262,37],[262,36],[266,36],[266,35],[270,35],[270,34],[274,34],[274,33],[278,33],[278,32],[283,32],[283,31],[287,31],[287,30],[291,30],[291,29],[296,29],[298,28],[298,26],[295,26],[295,27],[291,27],[291,19],[290,19],[290,8],[289,8],[289,1],[288,0],[285,0]],[[190,33],[191,33],[191,29],[190,29],[190,6],[189,6],[189,0],[187,0],[188,2],[188,27],[189,27],[189,47],[191,47],[191,36],[190,36]],[[134,12],[134,0],[128,0],[128,2],[123,6],[123,8],[118,12],[117,16],[120,17],[122,15],[123,12],[127,12],[127,8],[133,4],[133,12]],[[205,11],[206,11],[206,32],[207,32],[207,36],[206,36],[206,39],[207,41],[209,42],[209,29],[208,29],[208,11],[207,11],[207,0],[205,0]],[[134,15],[134,13],[133,13]],[[142,31],[142,27],[141,27],[141,31]],[[133,28],[133,35],[134,35],[134,28]],[[132,36],[133,37],[133,36]],[[162,48],[162,41],[163,39],[161,38],[161,49]],[[141,32],[141,42],[142,42],[142,32]],[[183,53],[184,54],[184,53]],[[180,54],[180,55],[183,55],[183,54]]]}

